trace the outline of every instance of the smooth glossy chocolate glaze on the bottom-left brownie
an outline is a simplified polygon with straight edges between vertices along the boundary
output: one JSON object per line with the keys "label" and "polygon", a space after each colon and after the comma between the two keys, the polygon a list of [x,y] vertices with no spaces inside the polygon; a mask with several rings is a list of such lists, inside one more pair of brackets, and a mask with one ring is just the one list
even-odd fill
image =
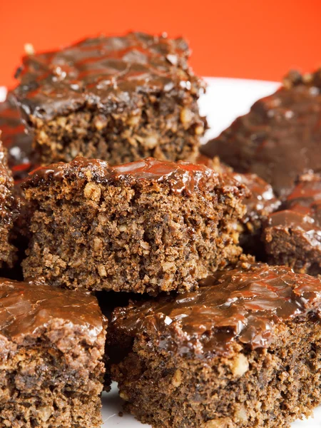
{"label": "smooth glossy chocolate glaze on the bottom-left brownie", "polygon": [[103,330],[96,297],[61,290],[41,280],[16,282],[0,278],[0,334],[14,342],[38,336],[54,320],[81,327],[91,340]]}

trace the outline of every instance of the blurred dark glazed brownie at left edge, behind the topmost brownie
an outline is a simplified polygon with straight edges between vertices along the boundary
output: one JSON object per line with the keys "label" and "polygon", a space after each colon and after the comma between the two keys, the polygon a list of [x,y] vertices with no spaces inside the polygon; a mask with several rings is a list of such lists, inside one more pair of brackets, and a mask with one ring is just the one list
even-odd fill
{"label": "blurred dark glazed brownie at left edge, behind the topmost brownie", "polygon": [[19,109],[9,92],[6,101],[0,103],[0,131],[4,147],[8,151],[8,165],[16,183],[26,178],[36,168],[36,153],[32,149],[32,137],[26,133]]}

